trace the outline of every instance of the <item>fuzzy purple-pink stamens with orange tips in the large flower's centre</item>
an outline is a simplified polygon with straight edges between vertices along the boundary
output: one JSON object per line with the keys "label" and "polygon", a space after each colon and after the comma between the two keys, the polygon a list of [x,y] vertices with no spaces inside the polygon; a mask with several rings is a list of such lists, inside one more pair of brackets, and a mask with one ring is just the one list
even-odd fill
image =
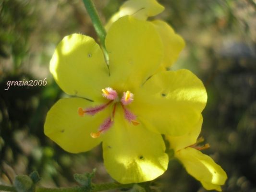
{"label": "fuzzy purple-pink stamens with orange tips in the large flower's centre", "polygon": [[121,104],[123,112],[124,112],[124,118],[129,121],[130,123],[133,123],[133,125],[138,125],[140,124],[136,120],[136,115],[134,115],[129,109],[126,108],[127,105],[133,102],[134,100],[134,94],[131,93],[130,91],[123,92],[123,95],[121,99],[118,96],[118,93],[112,89],[111,87],[107,87],[105,89],[102,89],[102,96],[107,98],[108,101],[105,104],[96,106],[96,107],[90,107],[90,108],[78,108],[78,115],[81,117],[85,115],[95,115],[96,113],[104,110],[108,106],[113,106],[112,112],[110,114],[110,117],[108,117],[106,120],[103,121],[103,123],[100,124],[98,128],[98,132],[91,132],[91,137],[92,138],[98,138],[101,133],[106,132],[110,129],[110,127],[114,123],[114,116],[116,112],[116,105],[118,103]]}

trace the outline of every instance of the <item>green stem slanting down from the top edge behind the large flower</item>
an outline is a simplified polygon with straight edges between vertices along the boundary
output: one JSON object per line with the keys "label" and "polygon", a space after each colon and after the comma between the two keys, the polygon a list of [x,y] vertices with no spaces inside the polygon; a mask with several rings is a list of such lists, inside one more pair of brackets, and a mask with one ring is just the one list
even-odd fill
{"label": "green stem slanting down from the top edge behind the large flower", "polygon": [[92,24],[95,28],[95,31],[99,37],[99,41],[100,41],[100,44],[101,44],[101,47],[102,47],[102,50],[103,50],[103,53],[104,53],[104,56],[105,56],[105,60],[108,64],[108,60],[109,60],[109,56],[108,56],[108,52],[107,52],[107,49],[105,47],[105,37],[106,37],[106,30],[102,24],[102,22],[100,21],[100,18],[99,18],[99,15],[98,15],[98,12],[95,8],[95,5],[93,4],[92,0],[83,0],[84,4],[85,4],[85,8],[88,12],[88,14],[90,15],[91,17],[91,20],[92,20]]}

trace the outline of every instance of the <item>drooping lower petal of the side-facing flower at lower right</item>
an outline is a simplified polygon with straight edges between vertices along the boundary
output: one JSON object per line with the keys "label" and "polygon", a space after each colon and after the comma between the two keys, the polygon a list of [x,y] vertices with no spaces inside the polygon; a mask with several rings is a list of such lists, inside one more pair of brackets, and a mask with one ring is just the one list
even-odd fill
{"label": "drooping lower petal of the side-facing flower at lower right", "polygon": [[227,174],[211,157],[191,147],[176,152],[175,156],[207,190],[221,191],[220,185],[224,185]]}

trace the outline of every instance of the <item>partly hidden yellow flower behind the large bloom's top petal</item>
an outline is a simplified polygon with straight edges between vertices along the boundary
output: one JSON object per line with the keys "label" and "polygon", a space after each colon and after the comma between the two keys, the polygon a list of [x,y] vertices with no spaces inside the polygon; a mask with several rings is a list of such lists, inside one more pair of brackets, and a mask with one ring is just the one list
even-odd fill
{"label": "partly hidden yellow flower behind the large bloom's top petal", "polygon": [[[155,16],[163,10],[164,7],[157,0],[127,0],[122,4],[119,11],[110,18],[108,24],[106,24],[106,29],[109,29],[111,24],[125,15],[132,15],[136,19],[146,21],[148,17]],[[164,46],[164,56],[160,69],[171,67],[185,47],[185,42],[166,22],[154,20],[152,24],[156,28]]]}

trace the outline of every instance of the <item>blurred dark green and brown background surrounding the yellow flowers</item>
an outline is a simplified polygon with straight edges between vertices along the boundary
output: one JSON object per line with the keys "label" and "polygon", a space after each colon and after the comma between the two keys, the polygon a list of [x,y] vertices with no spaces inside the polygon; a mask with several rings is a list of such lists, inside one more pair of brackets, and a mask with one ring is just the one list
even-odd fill
{"label": "blurred dark green and brown background surrounding the yellow flowers", "polygon": [[[95,0],[106,23],[123,0]],[[204,150],[226,170],[224,192],[256,192],[256,2],[255,0],[159,0],[157,16],[173,26],[186,48],[173,70],[193,71],[208,94],[201,135]],[[77,183],[74,173],[97,168],[94,182],[112,179],[101,146],[70,154],[43,133],[49,108],[63,92],[49,74],[55,46],[72,33],[97,37],[82,0],[0,0],[0,183],[37,170],[41,186]],[[44,80],[45,86],[8,81]],[[163,192],[205,192],[171,160],[155,185]]]}

